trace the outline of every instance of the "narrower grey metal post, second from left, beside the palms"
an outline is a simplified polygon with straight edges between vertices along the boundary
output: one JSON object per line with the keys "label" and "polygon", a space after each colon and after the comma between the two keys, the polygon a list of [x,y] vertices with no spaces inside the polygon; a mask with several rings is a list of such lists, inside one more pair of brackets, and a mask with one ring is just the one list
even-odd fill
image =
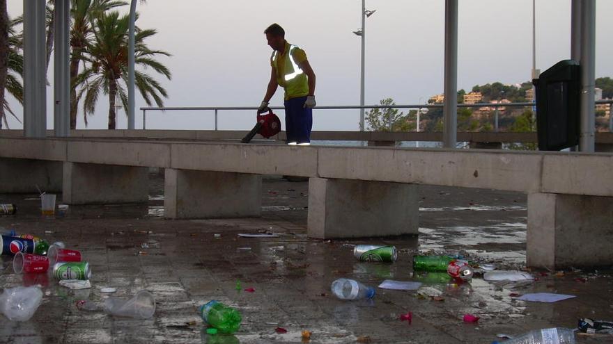
{"label": "narrower grey metal post, second from left, beside the palms", "polygon": [[54,9],[54,108],[55,136],[70,136],[70,0],[56,0]]}

